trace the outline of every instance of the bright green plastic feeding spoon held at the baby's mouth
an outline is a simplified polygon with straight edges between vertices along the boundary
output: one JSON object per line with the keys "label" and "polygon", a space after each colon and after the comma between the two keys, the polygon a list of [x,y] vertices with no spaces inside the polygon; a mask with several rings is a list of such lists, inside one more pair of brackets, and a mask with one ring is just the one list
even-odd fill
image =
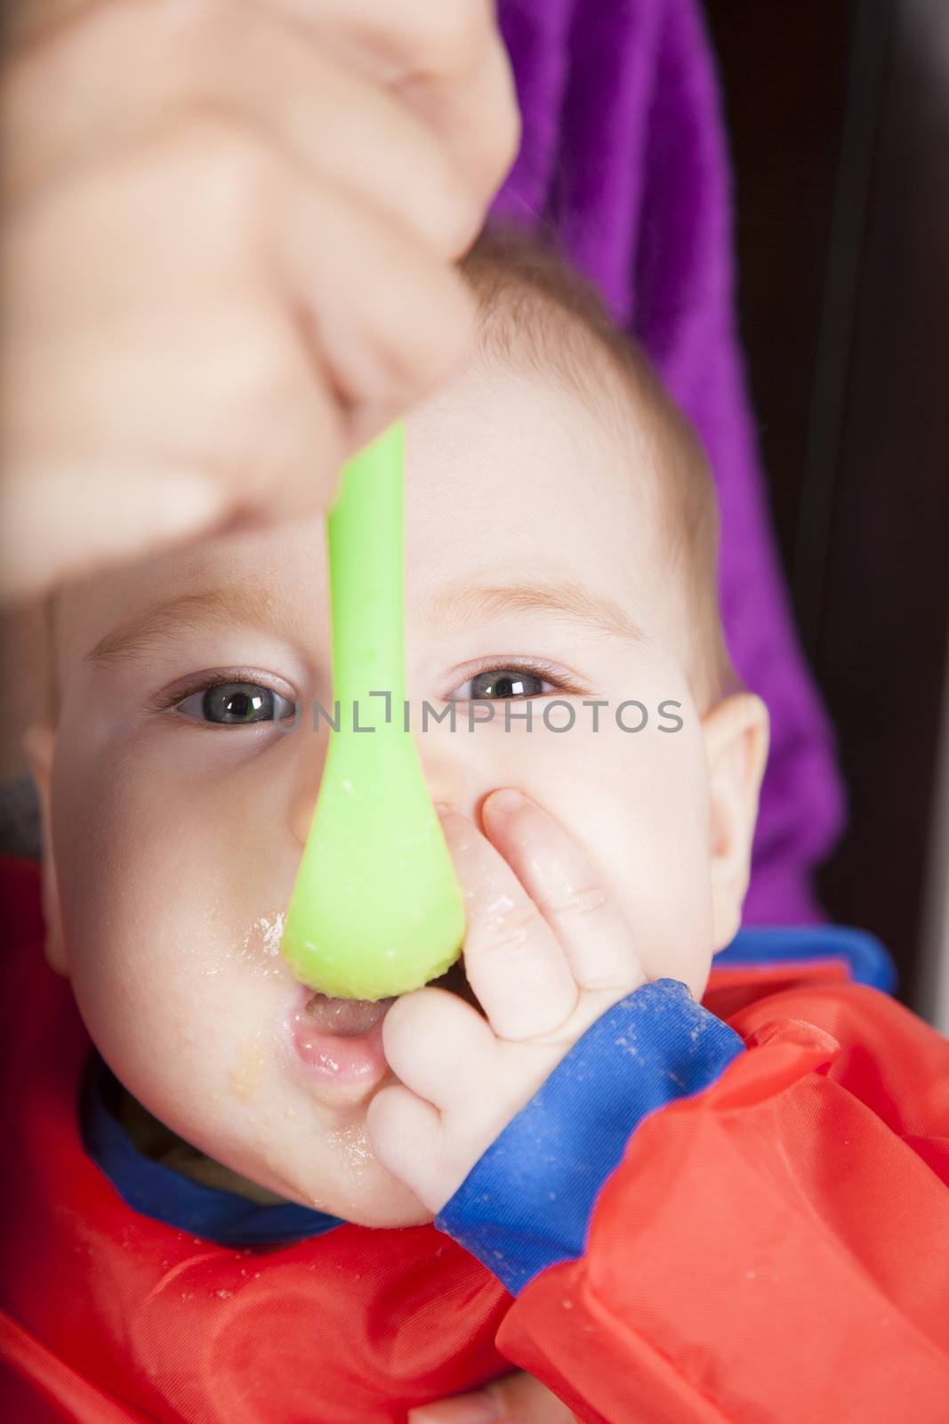
{"label": "bright green plastic feeding spoon held at the baby's mouth", "polygon": [[[461,886],[404,726],[404,449],[400,420],[349,461],[327,515],[339,731],[280,951],[302,983],[339,998],[420,988],[458,958],[465,931]],[[336,706],[327,712],[336,722]]]}

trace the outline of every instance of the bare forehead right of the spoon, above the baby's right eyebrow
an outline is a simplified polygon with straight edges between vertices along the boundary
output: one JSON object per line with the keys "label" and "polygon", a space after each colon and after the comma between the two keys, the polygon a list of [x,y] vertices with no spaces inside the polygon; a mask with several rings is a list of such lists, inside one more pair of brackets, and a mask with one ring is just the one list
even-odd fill
{"label": "bare forehead right of the spoon, above the baby's right eyebrow", "polygon": [[407,422],[410,575],[478,551],[608,575],[657,537],[654,441],[559,373],[482,353]]}

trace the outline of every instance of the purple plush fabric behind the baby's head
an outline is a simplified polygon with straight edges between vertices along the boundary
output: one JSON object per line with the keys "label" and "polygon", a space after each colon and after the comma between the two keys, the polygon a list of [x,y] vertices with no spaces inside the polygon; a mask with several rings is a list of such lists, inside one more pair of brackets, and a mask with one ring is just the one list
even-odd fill
{"label": "purple plush fabric behind the baby's head", "polygon": [[524,115],[495,212],[553,226],[699,429],[721,504],[721,607],[771,713],[746,923],[821,918],[842,820],[832,733],[792,625],[737,337],[731,179],[696,0],[499,0]]}

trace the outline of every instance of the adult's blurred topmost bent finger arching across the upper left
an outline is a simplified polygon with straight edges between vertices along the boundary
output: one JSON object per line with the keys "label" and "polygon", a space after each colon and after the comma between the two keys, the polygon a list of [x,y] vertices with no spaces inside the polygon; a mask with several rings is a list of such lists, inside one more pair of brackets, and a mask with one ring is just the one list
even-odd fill
{"label": "adult's blurred topmost bent finger arching across the upper left", "polygon": [[470,245],[481,202],[442,137],[391,90],[259,4],[245,4],[239,23],[230,9],[196,4],[185,21],[148,6],[101,6],[11,70],[7,202],[141,145],[188,112],[216,114],[266,138],[317,184],[381,208],[440,256]]}

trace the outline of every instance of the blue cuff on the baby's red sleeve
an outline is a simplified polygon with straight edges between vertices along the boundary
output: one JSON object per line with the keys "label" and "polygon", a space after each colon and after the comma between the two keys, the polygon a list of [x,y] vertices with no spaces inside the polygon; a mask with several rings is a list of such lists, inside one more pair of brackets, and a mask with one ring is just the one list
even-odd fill
{"label": "blue cuff on the baby's red sleeve", "polygon": [[583,1253],[593,1203],[643,1118],[713,1084],[744,1044],[677,980],[643,984],[573,1044],[435,1226],[518,1294]]}

